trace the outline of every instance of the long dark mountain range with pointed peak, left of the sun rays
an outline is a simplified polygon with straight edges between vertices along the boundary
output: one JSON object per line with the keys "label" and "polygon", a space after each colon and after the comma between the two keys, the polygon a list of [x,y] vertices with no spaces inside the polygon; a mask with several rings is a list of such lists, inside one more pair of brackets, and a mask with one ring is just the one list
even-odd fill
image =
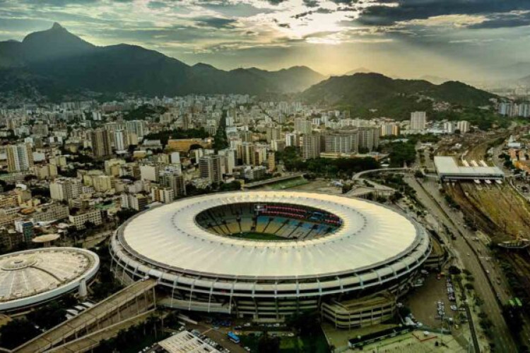
{"label": "long dark mountain range with pointed peak, left of the sun rays", "polygon": [[30,33],[22,42],[0,42],[0,91],[4,92],[33,88],[53,97],[72,90],[261,95],[300,92],[322,79],[324,76],[305,66],[224,71],[203,63],[189,66],[136,45],[97,47],[58,23]]}

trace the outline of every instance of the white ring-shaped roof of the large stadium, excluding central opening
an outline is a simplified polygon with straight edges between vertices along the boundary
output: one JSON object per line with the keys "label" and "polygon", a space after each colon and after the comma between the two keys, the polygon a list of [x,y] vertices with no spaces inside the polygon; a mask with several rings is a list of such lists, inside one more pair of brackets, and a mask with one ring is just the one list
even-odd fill
{"label": "white ring-shaped roof of the large stadium, excluding central opening", "polygon": [[[257,241],[213,234],[196,222],[196,215],[202,211],[231,203],[304,205],[333,213],[341,217],[343,224],[336,232],[317,239]],[[119,232],[122,246],[146,263],[181,273],[237,278],[352,273],[399,261],[426,237],[407,217],[382,205],[344,196],[292,191],[215,193],[184,198],[141,213]],[[422,246],[427,249],[428,243]]]}

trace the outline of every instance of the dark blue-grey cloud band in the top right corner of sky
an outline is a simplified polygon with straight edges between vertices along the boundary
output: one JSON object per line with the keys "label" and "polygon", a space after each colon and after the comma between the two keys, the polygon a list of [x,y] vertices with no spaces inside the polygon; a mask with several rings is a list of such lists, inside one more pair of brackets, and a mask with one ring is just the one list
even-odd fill
{"label": "dark blue-grey cloud band in the top right corner of sky", "polygon": [[399,21],[423,20],[442,15],[478,15],[530,10],[528,0],[399,0],[398,6],[385,6],[395,0],[380,0],[361,13],[365,25],[393,25]]}

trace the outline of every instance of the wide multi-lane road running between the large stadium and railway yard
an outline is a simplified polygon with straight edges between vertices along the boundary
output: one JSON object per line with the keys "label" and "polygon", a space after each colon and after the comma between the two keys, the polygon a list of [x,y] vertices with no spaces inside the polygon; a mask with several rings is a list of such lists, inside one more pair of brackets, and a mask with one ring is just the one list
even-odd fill
{"label": "wide multi-lane road running between the large stadium and railway yard", "polygon": [[[485,269],[481,266],[481,261],[485,261],[485,259],[481,259],[481,254],[478,251],[473,251],[475,249],[463,238],[468,237],[468,239],[474,239],[475,235],[464,228],[464,223],[461,221],[459,212],[449,210],[449,206],[445,204],[442,195],[437,191],[437,182],[425,181],[425,189],[423,189],[416,178],[406,176],[405,180],[416,190],[416,196],[425,205],[425,208],[437,217],[442,224],[446,225],[450,232],[457,236],[457,240],[450,241],[449,244],[456,251],[457,259],[461,263],[461,266],[469,270],[475,278],[473,283],[475,291],[483,299],[483,311],[488,314],[488,317],[493,323],[492,333],[495,347],[499,352],[517,352],[517,346],[502,316],[500,306],[497,303],[497,290],[490,287],[490,282],[487,277],[495,277],[498,273],[485,273]],[[485,252],[481,250],[481,253],[484,254]],[[496,271],[491,265],[486,270]]]}

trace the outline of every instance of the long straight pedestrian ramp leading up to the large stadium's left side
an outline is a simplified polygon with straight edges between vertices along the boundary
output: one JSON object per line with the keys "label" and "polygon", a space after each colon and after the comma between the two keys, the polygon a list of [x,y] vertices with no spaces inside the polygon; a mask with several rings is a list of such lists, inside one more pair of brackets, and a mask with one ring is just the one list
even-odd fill
{"label": "long straight pedestrian ramp leading up to the large stadium's left side", "polygon": [[95,306],[13,349],[13,353],[40,353],[121,323],[155,306],[156,280],[134,282]]}

